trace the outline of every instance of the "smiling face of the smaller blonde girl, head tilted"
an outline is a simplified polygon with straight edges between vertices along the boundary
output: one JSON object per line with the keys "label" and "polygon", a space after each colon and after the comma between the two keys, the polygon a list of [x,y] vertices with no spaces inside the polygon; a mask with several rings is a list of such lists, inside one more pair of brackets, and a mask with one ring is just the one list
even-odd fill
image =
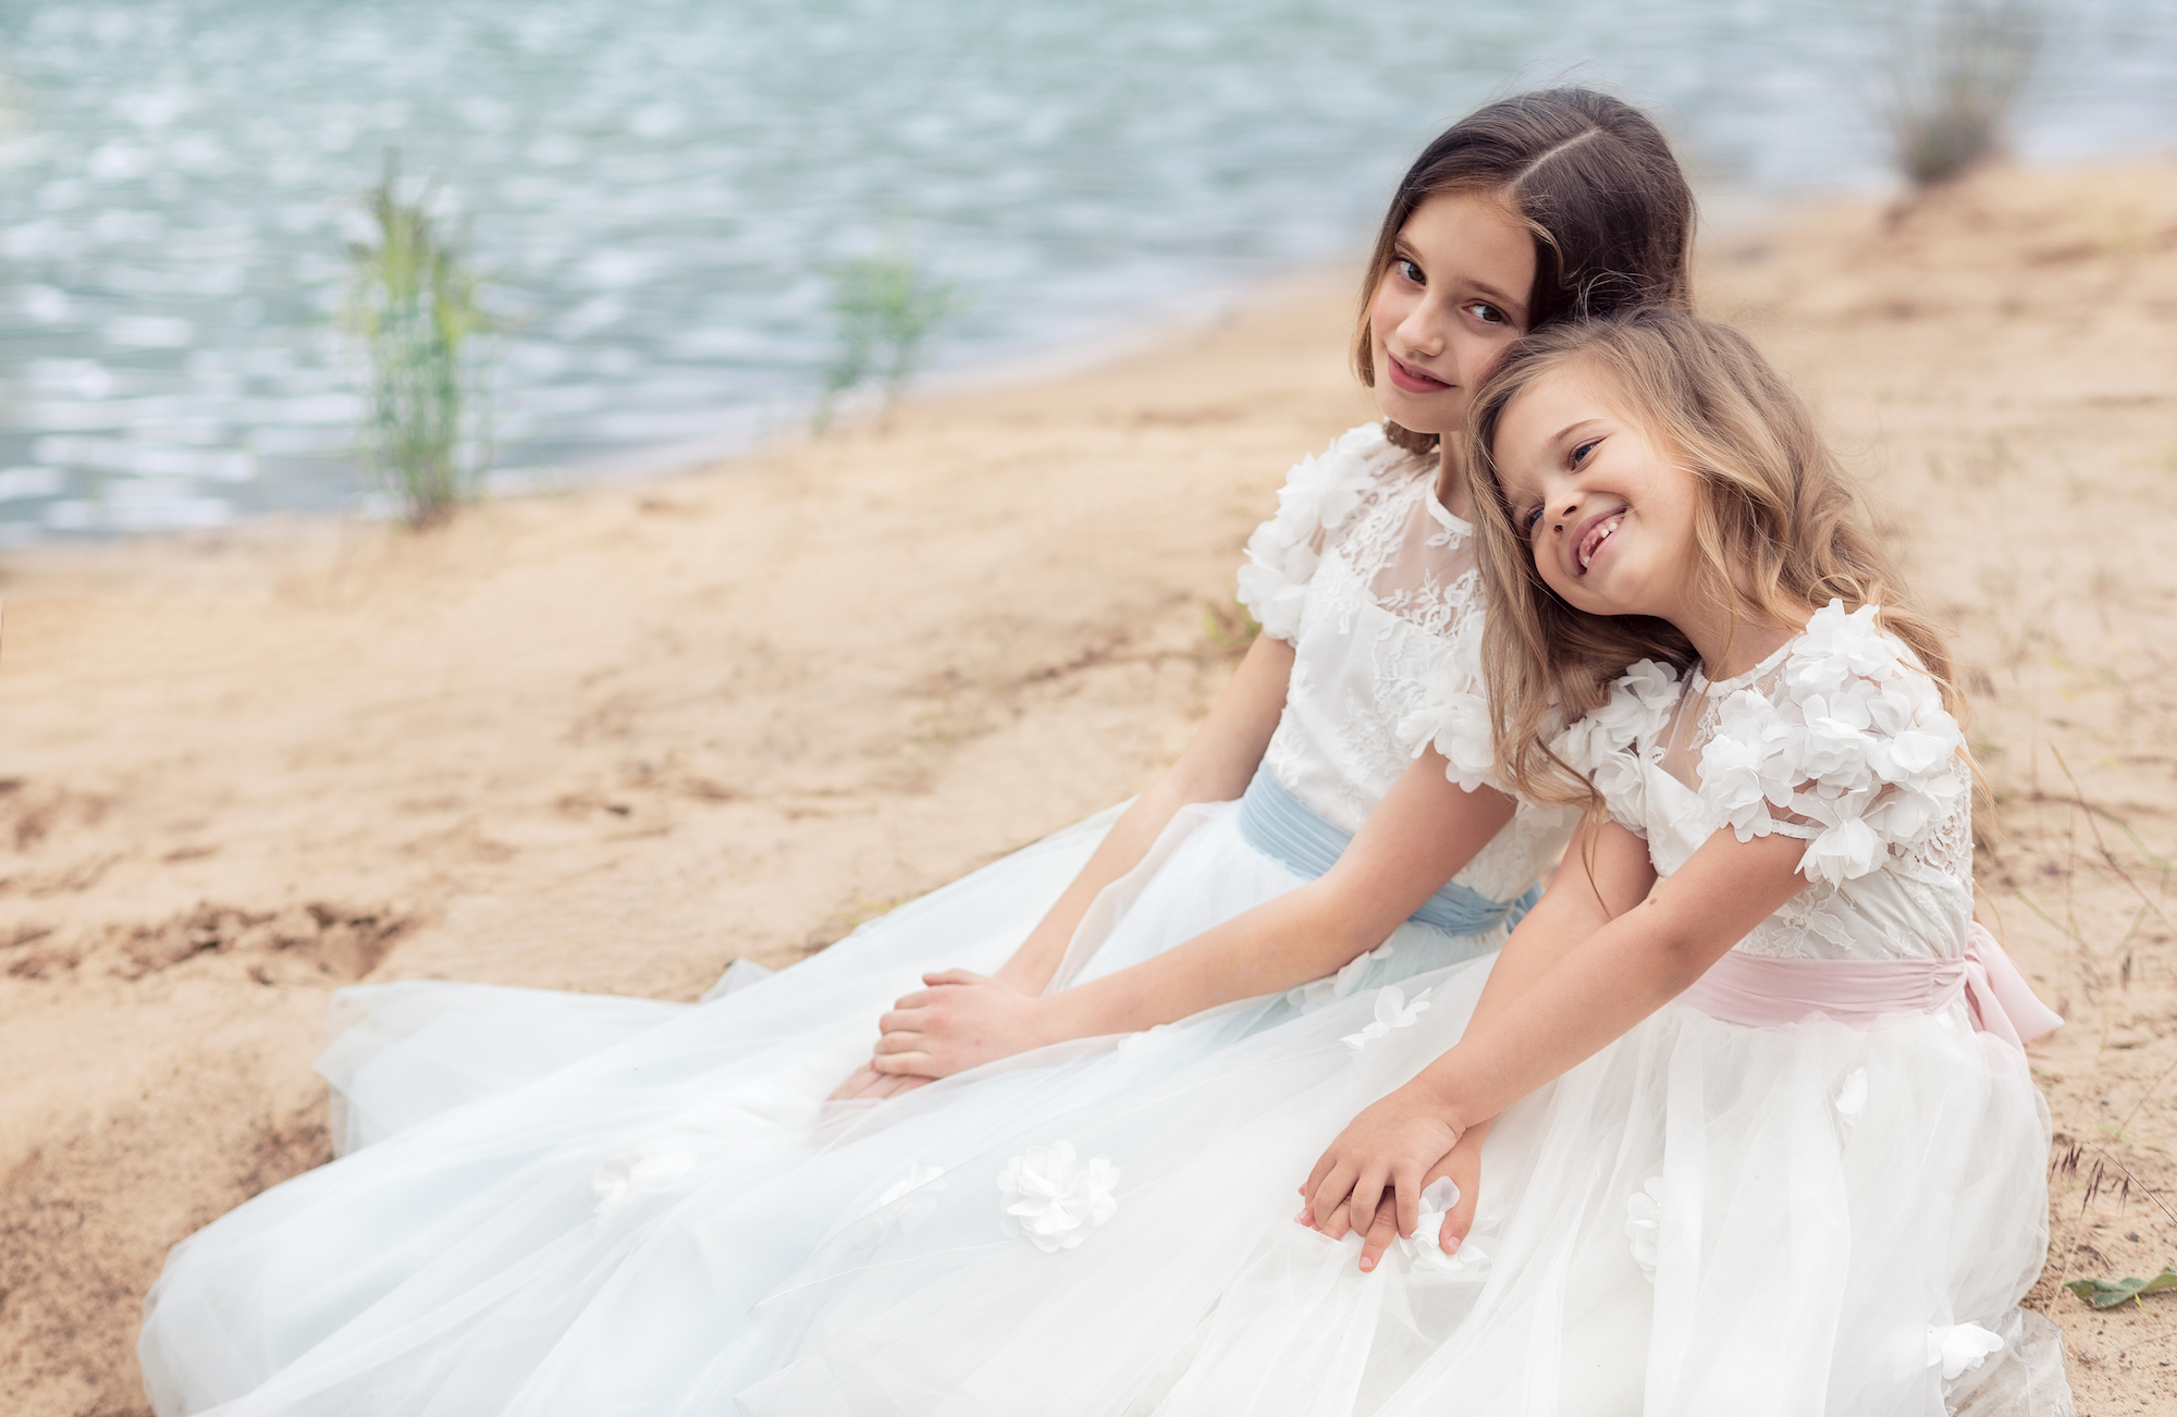
{"label": "smiling face of the smaller blonde girl, head tilted", "polygon": [[1700,483],[1613,394],[1578,361],[1522,390],[1496,431],[1504,501],[1567,605],[1683,629],[1696,612]]}

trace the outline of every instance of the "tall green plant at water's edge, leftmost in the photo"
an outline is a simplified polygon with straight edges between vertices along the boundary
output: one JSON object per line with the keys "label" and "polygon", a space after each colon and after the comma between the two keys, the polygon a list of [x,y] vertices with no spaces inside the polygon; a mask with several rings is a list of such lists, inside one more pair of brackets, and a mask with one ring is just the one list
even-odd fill
{"label": "tall green plant at water's edge, leftmost in the photo", "polygon": [[364,342],[370,392],[364,442],[411,527],[444,520],[490,461],[488,398],[477,337],[490,320],[477,303],[468,252],[425,209],[401,198],[401,168],[364,198],[374,233],[348,248],[346,322]]}

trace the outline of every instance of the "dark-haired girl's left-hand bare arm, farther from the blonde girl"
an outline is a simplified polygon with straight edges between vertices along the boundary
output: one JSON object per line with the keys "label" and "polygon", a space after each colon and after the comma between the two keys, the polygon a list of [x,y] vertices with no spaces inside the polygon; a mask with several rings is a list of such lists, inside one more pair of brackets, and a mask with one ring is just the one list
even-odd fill
{"label": "dark-haired girl's left-hand bare arm, farther from the blonde girl", "polygon": [[1247,790],[1247,779],[1254,777],[1263,751],[1269,749],[1269,736],[1278,729],[1291,677],[1293,646],[1274,636],[1256,636],[1186,751],[1112,823],[1082,873],[997,971],[999,979],[1041,995],[1058,973],[1088,905],[1104,886],[1141,864],[1180,808],[1197,801],[1232,801]]}

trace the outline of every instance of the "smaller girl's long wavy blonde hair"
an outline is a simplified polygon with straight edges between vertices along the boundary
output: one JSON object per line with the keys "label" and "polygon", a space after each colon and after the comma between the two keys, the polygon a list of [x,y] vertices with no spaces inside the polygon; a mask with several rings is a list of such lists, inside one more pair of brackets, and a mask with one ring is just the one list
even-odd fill
{"label": "smaller girl's long wavy blonde hair", "polygon": [[1550,751],[1552,725],[1600,707],[1635,660],[1663,660],[1681,673],[1698,660],[1674,625],[1591,616],[1557,599],[1513,520],[1496,464],[1498,429],[1520,394],[1572,366],[1596,374],[1615,394],[1615,411],[1694,475],[1700,586],[1731,607],[1733,625],[1755,616],[1800,625],[1831,599],[1846,609],[1877,605],[1883,629],[1905,642],[1951,716],[1966,723],[1942,631],[1911,609],[1807,405],[1746,335],[1646,307],[1526,335],[1467,416],[1476,559],[1489,594],[1483,657],[1504,781],[1539,801],[1594,805],[1587,779]]}

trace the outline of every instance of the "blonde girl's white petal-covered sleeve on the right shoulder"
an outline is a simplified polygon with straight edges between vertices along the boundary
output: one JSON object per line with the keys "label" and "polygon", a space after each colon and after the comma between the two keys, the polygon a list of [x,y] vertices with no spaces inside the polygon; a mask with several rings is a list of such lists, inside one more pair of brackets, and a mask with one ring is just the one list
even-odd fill
{"label": "blonde girl's white petal-covered sleeve on the right shoulder", "polygon": [[1731,694],[1700,751],[1700,794],[1715,818],[1739,840],[1805,840],[1809,882],[1868,875],[1968,805],[1966,738],[1935,681],[1874,616],[1840,601],[1816,612],[1774,688]]}

